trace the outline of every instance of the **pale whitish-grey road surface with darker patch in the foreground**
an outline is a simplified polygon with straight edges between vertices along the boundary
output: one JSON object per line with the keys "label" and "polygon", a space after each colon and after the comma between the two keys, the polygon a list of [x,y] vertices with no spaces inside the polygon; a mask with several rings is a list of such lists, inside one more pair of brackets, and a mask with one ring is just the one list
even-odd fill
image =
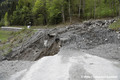
{"label": "pale whitish-grey road surface with darker patch in the foreground", "polygon": [[63,49],[38,60],[29,70],[12,75],[10,80],[120,80],[119,75],[117,61]]}

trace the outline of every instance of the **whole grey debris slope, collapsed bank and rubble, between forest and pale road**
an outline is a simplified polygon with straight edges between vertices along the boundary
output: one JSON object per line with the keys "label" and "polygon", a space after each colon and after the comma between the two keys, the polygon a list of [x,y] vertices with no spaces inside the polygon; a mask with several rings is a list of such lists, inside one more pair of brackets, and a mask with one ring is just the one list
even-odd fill
{"label": "whole grey debris slope, collapsed bank and rubble, between forest and pale road", "polygon": [[[60,46],[89,50],[103,44],[120,44],[120,32],[108,29],[115,20],[85,21],[83,24],[54,29],[39,30],[22,46],[14,49],[8,60],[38,60],[43,56],[55,55]],[[67,48],[67,47],[65,47]],[[112,56],[120,60],[119,52]]]}

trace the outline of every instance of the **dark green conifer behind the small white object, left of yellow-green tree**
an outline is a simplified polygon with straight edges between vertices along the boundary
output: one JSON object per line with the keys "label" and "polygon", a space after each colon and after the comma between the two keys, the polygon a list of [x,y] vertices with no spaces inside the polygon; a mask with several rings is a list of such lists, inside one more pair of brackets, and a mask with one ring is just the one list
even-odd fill
{"label": "dark green conifer behind the small white object, left of yellow-green tree", "polygon": [[11,24],[27,25],[29,22],[32,22],[32,6],[32,0],[19,0],[16,10],[11,15]]}

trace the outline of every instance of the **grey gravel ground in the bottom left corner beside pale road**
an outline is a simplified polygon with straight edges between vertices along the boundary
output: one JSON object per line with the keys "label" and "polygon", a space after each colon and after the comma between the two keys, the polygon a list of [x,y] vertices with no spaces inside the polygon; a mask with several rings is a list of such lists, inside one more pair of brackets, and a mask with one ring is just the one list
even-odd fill
{"label": "grey gravel ground in the bottom left corner beside pale road", "polygon": [[7,80],[8,77],[29,67],[34,62],[31,61],[2,61],[0,62],[0,80]]}

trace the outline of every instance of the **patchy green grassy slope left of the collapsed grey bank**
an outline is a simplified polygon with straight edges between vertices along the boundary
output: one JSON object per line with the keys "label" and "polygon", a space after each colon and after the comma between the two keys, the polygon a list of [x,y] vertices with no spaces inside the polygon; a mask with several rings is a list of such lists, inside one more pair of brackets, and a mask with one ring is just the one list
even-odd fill
{"label": "patchy green grassy slope left of the collapsed grey bank", "polygon": [[18,32],[2,31],[0,30],[0,51],[5,56],[12,51],[13,48],[21,46],[23,42],[29,39],[29,37],[35,32],[32,29],[23,29]]}

